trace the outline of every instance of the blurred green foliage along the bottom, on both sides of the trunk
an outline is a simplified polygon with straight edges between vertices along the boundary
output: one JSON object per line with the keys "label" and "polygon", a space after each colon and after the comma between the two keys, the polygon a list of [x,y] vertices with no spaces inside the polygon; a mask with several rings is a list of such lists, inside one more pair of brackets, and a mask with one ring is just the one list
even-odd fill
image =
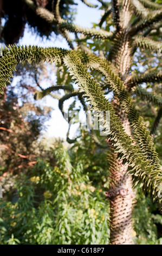
{"label": "blurred green foliage along the bottom, on both sides of the trunk", "polygon": [[[42,139],[34,167],[1,179],[1,244],[108,244],[107,157],[87,137],[72,148]],[[158,206],[135,190],[133,241],[161,244]]]}

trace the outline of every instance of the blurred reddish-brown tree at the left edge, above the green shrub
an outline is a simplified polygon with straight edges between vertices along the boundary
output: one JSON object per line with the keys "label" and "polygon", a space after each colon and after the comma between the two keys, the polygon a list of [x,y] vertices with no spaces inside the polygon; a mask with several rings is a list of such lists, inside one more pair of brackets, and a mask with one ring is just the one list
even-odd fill
{"label": "blurred reddish-brown tree at the left edge, above the green shrub", "polygon": [[[51,109],[36,105],[33,100],[35,72],[36,67],[19,65],[14,78],[16,85],[9,85],[8,90],[5,89],[0,96],[0,161],[3,176],[33,166],[38,154],[35,142],[40,137],[44,122],[50,117]],[[20,75],[21,80],[18,81]],[[32,81],[33,86],[30,86]]]}

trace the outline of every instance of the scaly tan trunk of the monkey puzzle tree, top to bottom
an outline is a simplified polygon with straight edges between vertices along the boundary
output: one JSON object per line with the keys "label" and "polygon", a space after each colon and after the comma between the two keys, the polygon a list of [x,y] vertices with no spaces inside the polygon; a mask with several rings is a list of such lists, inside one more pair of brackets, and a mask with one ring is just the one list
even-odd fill
{"label": "scaly tan trunk of the monkey puzzle tree, top to bottom", "polygon": [[[112,60],[119,71],[121,80],[125,81],[131,68],[131,38],[128,33],[129,21],[131,19],[130,1],[122,1],[122,7],[119,9],[118,1],[112,0],[115,8],[115,21],[118,23],[118,32],[114,40],[115,57]],[[127,134],[131,136],[129,121],[126,114],[122,111],[118,99],[113,100],[116,114],[119,116]],[[128,166],[117,159],[114,154],[115,168],[111,169],[110,188],[107,197],[110,201],[110,244],[129,245],[132,243],[132,210],[134,192],[132,189],[132,176],[127,174]]]}

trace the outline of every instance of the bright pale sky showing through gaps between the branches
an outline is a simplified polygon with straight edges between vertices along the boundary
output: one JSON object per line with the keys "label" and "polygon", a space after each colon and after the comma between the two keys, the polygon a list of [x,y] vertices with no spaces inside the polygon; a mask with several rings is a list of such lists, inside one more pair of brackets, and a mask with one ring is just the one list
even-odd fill
{"label": "bright pale sky showing through gaps between the branches", "polygon": [[[89,2],[93,4],[98,4],[99,2],[96,0],[89,0]],[[92,27],[92,23],[98,23],[101,17],[102,10],[99,8],[89,8],[81,1],[78,1],[79,5],[77,5],[77,15],[75,19],[75,24],[81,25],[82,27]],[[29,32],[29,29],[26,28],[24,32],[23,38],[19,42],[20,45],[38,45],[42,47],[62,47],[69,48],[66,40],[59,36],[57,40],[55,39],[55,35],[51,36],[50,40],[41,40],[39,36],[32,35]],[[71,100],[67,100],[64,103],[64,108],[68,108]],[[48,125],[47,133],[50,137],[61,137],[66,139],[66,133],[68,131],[68,123],[62,117],[62,114],[58,107],[58,100],[51,99],[50,96],[46,96],[46,104],[48,106],[52,106],[54,111],[52,111],[51,119],[46,122]],[[76,127],[76,126],[75,126]],[[70,129],[70,138],[73,137],[75,133],[75,127]]]}

